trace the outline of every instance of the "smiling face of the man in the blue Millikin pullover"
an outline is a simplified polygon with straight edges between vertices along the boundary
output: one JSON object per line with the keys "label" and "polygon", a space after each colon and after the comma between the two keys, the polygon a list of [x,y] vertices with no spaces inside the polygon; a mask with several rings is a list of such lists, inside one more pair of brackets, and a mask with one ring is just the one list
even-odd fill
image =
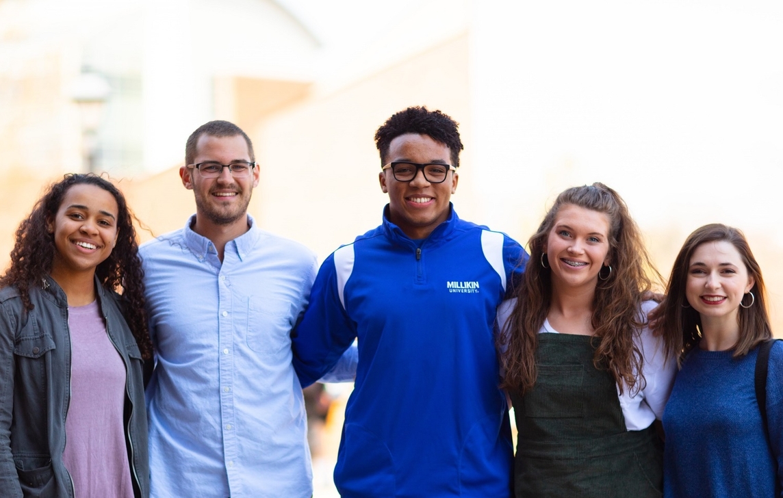
{"label": "smiling face of the man in the blue Millikin pullover", "polygon": [[[384,163],[450,164],[449,147],[435,142],[428,135],[406,133],[391,140]],[[391,168],[381,171],[381,189],[389,194],[389,221],[399,226],[413,240],[425,239],[438,225],[449,218],[449,199],[456,192],[456,171],[446,173],[446,181],[430,183],[417,171],[410,182],[398,182]]]}

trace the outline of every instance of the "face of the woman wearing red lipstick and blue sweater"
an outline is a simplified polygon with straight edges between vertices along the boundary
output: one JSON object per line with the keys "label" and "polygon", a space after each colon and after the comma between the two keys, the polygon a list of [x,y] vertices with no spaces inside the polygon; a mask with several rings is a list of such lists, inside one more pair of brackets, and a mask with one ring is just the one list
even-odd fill
{"label": "face of the woman wearing red lipstick and blue sweater", "polygon": [[685,297],[702,316],[737,323],[742,297],[753,287],[745,262],[731,242],[705,242],[693,252],[688,264]]}

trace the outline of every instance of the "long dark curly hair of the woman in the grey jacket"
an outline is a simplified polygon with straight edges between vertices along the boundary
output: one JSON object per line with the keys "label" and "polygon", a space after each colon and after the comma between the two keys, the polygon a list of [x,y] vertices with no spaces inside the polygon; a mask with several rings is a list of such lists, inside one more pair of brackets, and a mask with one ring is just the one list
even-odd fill
{"label": "long dark curly hair of the woman in the grey jacket", "polygon": [[144,359],[153,354],[150,332],[144,309],[144,272],[136,243],[133,221],[137,220],[125,197],[114,184],[97,175],[65,175],[52,183],[33,211],[16,229],[16,243],[11,251],[11,265],[0,277],[0,287],[14,286],[19,290],[23,305],[31,310],[30,288],[38,285],[52,271],[56,246],[54,236],[47,229],[55,218],[68,189],[74,185],[94,185],[106,190],[117,200],[117,244],[105,261],[96,268],[96,276],[103,287],[122,294],[123,316],[128,322]]}

